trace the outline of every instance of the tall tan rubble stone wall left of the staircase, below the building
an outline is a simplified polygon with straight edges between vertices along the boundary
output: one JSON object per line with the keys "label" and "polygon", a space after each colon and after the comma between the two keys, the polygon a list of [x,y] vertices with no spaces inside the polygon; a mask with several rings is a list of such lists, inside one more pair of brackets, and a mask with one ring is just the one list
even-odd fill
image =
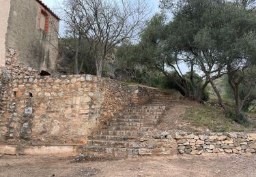
{"label": "tall tan rubble stone wall left of the staircase, below the building", "polygon": [[86,144],[125,106],[149,101],[134,97],[147,88],[91,75],[14,75],[4,89],[0,142],[14,144]]}

